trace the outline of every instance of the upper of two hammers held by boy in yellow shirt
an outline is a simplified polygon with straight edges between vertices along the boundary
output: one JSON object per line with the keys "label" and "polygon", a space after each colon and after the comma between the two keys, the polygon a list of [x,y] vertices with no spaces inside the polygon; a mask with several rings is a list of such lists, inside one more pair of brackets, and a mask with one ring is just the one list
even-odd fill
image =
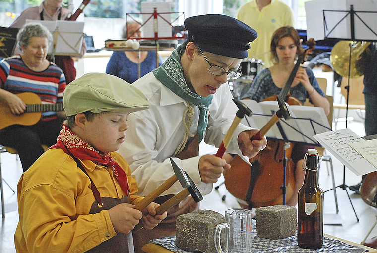
{"label": "upper of two hammers held by boy in yellow shirt", "polygon": [[165,190],[168,190],[177,180],[181,183],[183,188],[188,188],[190,186],[190,182],[185,171],[178,166],[176,162],[172,158],[170,158],[170,163],[172,164],[174,175],[165,180],[156,190],[152,191],[147,195],[144,199],[138,202],[134,208],[141,211],[145,207],[147,207],[150,203],[153,202],[159,195],[161,195]]}

